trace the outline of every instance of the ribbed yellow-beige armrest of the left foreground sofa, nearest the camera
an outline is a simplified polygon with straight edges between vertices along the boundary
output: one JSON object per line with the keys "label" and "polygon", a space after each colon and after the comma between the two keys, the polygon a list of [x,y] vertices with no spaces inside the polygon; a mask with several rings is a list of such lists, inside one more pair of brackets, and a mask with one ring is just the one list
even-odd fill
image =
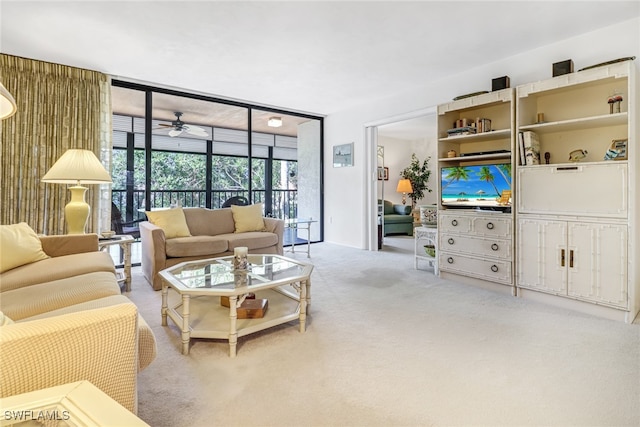
{"label": "ribbed yellow-beige armrest of the left foreground sofa, nearest the camera", "polygon": [[136,413],[137,322],[125,303],[0,327],[0,397],[88,380]]}

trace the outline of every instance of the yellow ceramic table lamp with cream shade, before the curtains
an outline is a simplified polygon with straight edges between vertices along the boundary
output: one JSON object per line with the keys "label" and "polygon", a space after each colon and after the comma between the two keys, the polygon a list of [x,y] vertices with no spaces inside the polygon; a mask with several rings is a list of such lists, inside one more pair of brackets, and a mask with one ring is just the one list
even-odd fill
{"label": "yellow ceramic table lamp with cream shade, before the curtains", "polygon": [[90,150],[71,149],[42,177],[42,182],[75,184],[69,187],[71,201],[64,207],[67,234],[84,234],[91,207],[85,201],[87,187],[81,184],[111,182],[109,172]]}

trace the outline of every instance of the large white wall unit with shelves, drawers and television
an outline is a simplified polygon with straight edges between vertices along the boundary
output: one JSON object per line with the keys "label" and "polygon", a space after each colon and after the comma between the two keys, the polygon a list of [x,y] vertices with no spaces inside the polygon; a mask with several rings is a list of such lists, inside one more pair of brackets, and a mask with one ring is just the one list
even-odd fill
{"label": "large white wall unit with shelves, drawers and television", "polygon": [[[636,78],[633,60],[626,60],[438,107],[442,277],[634,320],[640,310]],[[469,122],[475,129],[452,130]],[[521,132],[532,132],[539,144],[535,161],[521,153]],[[474,179],[481,189],[468,194]],[[501,194],[497,183],[509,179],[510,190]],[[456,198],[459,189],[467,193]]]}

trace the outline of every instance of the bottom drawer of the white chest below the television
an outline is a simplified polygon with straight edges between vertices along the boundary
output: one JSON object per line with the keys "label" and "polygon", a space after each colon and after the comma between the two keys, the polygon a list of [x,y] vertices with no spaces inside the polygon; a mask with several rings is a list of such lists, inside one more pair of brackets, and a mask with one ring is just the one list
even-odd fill
{"label": "bottom drawer of the white chest below the television", "polygon": [[482,260],[450,252],[439,253],[440,271],[476,277],[491,282],[511,284],[511,262]]}

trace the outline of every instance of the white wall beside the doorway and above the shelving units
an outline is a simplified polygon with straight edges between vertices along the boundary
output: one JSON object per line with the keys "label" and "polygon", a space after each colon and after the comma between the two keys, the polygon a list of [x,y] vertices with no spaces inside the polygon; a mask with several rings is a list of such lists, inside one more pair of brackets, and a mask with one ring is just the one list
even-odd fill
{"label": "white wall beside the doorway and above the shelving units", "polygon": [[[325,241],[357,248],[368,246],[366,218],[369,206],[365,189],[367,181],[375,181],[376,176],[369,174],[366,167],[370,150],[364,146],[365,124],[433,107],[458,95],[491,90],[491,79],[504,75],[510,77],[511,87],[544,80],[552,76],[554,62],[572,59],[577,71],[628,56],[635,56],[636,66],[640,68],[640,18],[561,40],[443,80],[426,82],[423,87],[377,103],[329,115],[325,120]],[[348,142],[354,142],[354,167],[334,169],[326,160],[331,159],[332,147]]]}

